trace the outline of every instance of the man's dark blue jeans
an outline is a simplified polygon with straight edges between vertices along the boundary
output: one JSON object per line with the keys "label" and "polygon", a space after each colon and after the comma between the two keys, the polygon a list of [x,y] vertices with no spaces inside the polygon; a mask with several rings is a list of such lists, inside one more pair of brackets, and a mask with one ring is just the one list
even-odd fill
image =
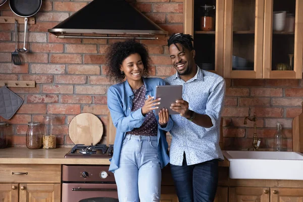
{"label": "man's dark blue jeans", "polygon": [[214,201],[218,185],[218,160],[182,166],[170,165],[172,177],[180,202]]}

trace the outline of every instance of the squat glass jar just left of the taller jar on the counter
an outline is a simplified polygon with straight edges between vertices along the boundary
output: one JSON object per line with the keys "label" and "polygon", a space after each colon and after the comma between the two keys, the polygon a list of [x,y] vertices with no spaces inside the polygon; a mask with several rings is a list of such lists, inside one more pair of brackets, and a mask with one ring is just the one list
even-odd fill
{"label": "squat glass jar just left of the taller jar on the counter", "polygon": [[28,122],[26,131],[26,147],[30,149],[41,148],[42,133],[39,122]]}

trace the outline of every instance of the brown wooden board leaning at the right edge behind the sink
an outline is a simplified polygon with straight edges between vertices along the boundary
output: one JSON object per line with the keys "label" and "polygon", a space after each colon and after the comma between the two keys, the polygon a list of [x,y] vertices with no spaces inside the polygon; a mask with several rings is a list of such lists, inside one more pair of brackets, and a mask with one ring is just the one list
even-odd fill
{"label": "brown wooden board leaning at the right edge behind the sink", "polygon": [[292,120],[292,150],[303,153],[303,103],[302,113]]}

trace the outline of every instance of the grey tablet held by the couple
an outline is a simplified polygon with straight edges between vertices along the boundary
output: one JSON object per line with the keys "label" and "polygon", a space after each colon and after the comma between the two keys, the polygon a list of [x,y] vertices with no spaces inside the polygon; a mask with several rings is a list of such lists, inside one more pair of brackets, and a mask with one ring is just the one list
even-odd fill
{"label": "grey tablet held by the couple", "polygon": [[163,108],[168,109],[170,115],[179,114],[170,109],[171,104],[176,103],[177,99],[182,99],[182,85],[157,85],[156,99],[161,98],[160,105],[156,109],[156,114]]}

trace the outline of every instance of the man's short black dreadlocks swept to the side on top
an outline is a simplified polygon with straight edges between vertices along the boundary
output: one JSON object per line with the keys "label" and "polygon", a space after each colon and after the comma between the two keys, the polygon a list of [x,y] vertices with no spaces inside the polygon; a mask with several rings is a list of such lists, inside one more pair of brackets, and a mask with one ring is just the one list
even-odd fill
{"label": "man's short black dreadlocks swept to the side on top", "polygon": [[171,44],[174,44],[178,48],[176,43],[180,43],[183,48],[186,48],[189,51],[192,51],[193,46],[192,46],[191,41],[193,41],[193,38],[190,34],[177,33],[177,34],[173,34],[173,35],[171,35],[171,37],[169,37],[169,39],[167,40],[167,43],[168,43],[167,45],[169,47]]}

